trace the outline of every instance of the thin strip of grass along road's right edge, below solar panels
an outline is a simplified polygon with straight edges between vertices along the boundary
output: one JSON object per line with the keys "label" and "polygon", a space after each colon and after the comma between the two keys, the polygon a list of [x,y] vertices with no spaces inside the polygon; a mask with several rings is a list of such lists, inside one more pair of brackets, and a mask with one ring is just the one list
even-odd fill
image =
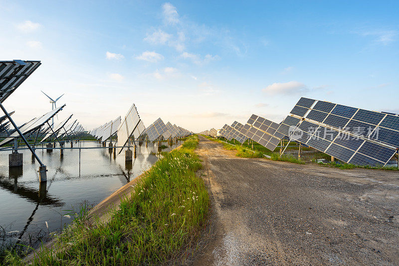
{"label": "thin strip of grass along road's right edge, below solar panels", "polygon": [[[223,144],[223,147],[226,149],[239,149],[242,147],[245,147],[246,149],[252,150],[251,149],[251,143],[248,143],[248,140],[246,140],[242,145],[234,145],[234,140],[227,140],[225,139],[225,142],[231,143],[231,145],[213,138],[213,137],[209,137],[209,136],[205,136],[206,138],[212,140],[212,141],[217,141]],[[238,143],[238,141],[236,141],[235,143]],[[235,148],[237,147],[237,148]],[[299,149],[299,145],[296,145],[296,142],[290,142],[290,149],[294,149],[294,150],[298,150]],[[302,150],[306,151],[306,150],[312,150],[312,148],[310,147],[302,147]],[[300,164],[304,164],[305,161],[303,159],[298,159],[297,157],[294,156],[290,156],[290,155],[283,155],[280,156],[279,154],[279,150],[280,148],[277,147],[274,151],[270,151],[267,148],[265,148],[264,146],[260,145],[257,142],[253,142],[253,152],[260,152],[262,154],[266,154],[270,156],[271,160],[275,160],[275,161],[288,161],[288,162],[293,162],[293,163],[300,163]],[[239,157],[245,157],[245,156],[240,156],[239,152],[237,152],[236,156]],[[254,156],[257,157],[257,156]],[[259,156],[262,157],[262,156]],[[324,158],[324,159],[330,159],[331,156],[322,152],[318,152],[313,154],[313,158],[310,159],[311,162],[316,162],[316,159],[319,158]],[[353,169],[353,168],[366,168],[366,169],[379,169],[379,170],[393,170],[393,171],[398,171],[398,167],[397,166],[370,166],[370,165],[355,165],[355,164],[350,164],[350,163],[334,163],[334,162],[330,162],[330,163],[322,163],[319,162],[319,165],[325,166],[325,167],[337,167],[340,169]]]}

